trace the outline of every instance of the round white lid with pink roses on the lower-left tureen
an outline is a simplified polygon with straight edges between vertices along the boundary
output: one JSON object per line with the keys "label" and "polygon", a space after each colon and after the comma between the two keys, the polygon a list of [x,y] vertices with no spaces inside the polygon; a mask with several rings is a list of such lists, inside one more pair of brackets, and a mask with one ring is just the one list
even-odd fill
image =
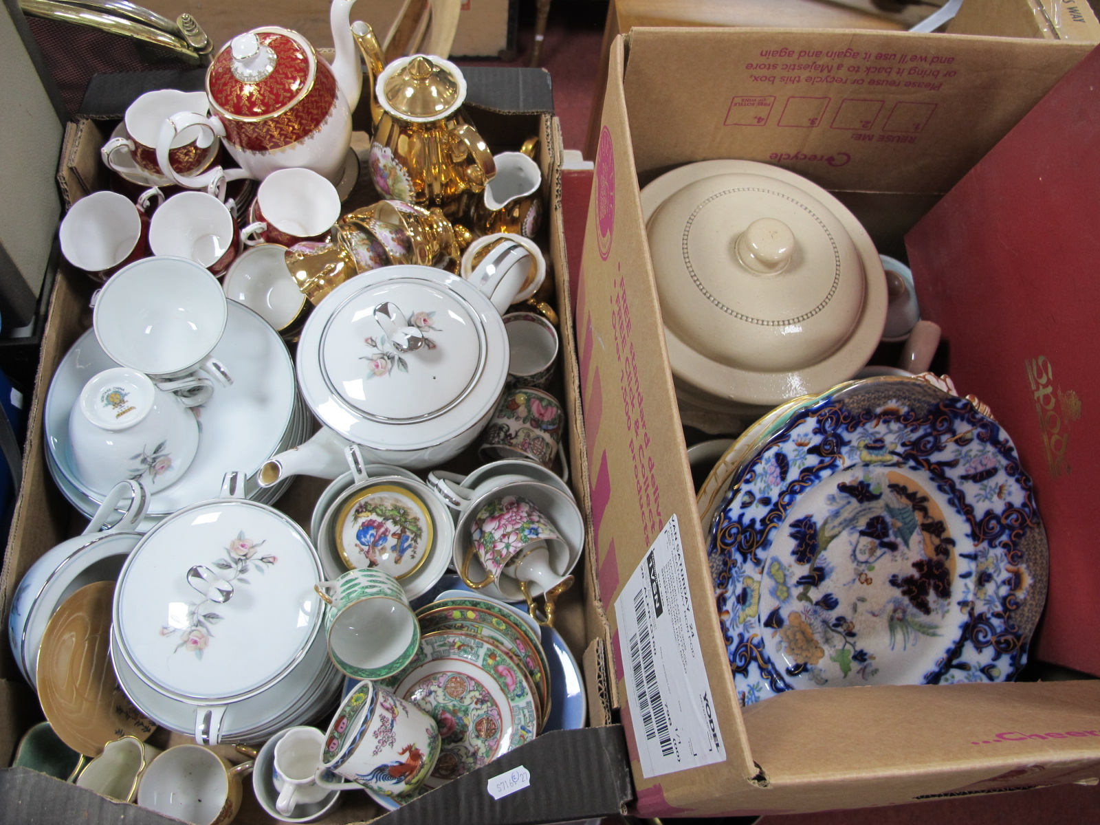
{"label": "round white lid with pink roses on the lower-left tureen", "polygon": [[119,575],[114,628],[141,679],[185,700],[233,701],[286,675],[318,632],[317,551],[278,510],[213,499],[161,521]]}

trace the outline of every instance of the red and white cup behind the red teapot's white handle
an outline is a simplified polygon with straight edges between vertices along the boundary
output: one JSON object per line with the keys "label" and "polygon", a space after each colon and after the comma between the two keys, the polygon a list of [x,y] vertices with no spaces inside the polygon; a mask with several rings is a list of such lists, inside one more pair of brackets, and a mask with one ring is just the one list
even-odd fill
{"label": "red and white cup behind the red teapot's white handle", "polygon": [[[121,175],[143,173],[154,179],[164,178],[156,161],[156,141],[164,121],[179,111],[205,112],[206,109],[206,94],[201,91],[146,91],[127,108],[123,118],[127,135],[112,138],[103,144],[100,150],[103,163]],[[213,162],[219,147],[220,143],[209,140],[202,130],[184,129],[173,138],[168,157],[180,174],[194,175]],[[170,182],[161,182],[162,185],[166,183]]]}

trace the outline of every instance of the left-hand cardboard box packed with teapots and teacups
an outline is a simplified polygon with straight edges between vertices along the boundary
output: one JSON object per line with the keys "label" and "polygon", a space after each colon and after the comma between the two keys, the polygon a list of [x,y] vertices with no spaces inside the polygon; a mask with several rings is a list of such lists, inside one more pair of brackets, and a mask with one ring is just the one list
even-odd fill
{"label": "left-hand cardboard box packed with teapots and teacups", "polygon": [[[471,119],[494,151],[518,147],[522,141],[537,134],[541,138],[539,163],[543,173],[543,197],[550,208],[540,243],[548,252],[548,260],[557,288],[557,306],[562,338],[562,402],[570,418],[570,429],[563,449],[569,451],[574,480],[585,477],[583,436],[580,431],[580,392],[578,382],[572,312],[569,298],[568,264],[565,261],[561,215],[561,134],[557,119],[543,110],[517,111],[508,101],[516,99],[547,100],[549,84],[544,73],[516,72],[513,69],[479,69],[468,76],[469,101],[482,101],[483,108],[468,102]],[[530,86],[528,84],[535,84]],[[522,88],[516,88],[519,85]],[[540,90],[540,86],[544,87]],[[81,121],[70,127],[69,151],[61,164],[61,176],[66,182],[67,197],[78,198],[94,189],[98,180],[98,146],[113,125],[111,121]],[[354,136],[353,145],[363,145],[365,135]],[[73,145],[74,142],[77,145]],[[364,164],[365,168],[365,164]],[[366,176],[360,187],[371,186]],[[356,193],[366,191],[356,189]],[[356,194],[349,198],[355,201]],[[372,198],[373,199],[373,198]],[[365,201],[364,201],[365,202]],[[77,277],[58,277],[51,301],[48,326],[42,349],[37,382],[29,416],[29,430],[23,466],[24,483],[16,504],[12,530],[0,575],[0,614],[7,616],[8,605],[26,569],[43,552],[75,535],[85,520],[64,501],[50,477],[43,454],[42,420],[45,393],[53,373],[73,342],[88,328],[87,310],[90,282]],[[471,455],[455,460],[474,461]],[[472,465],[454,465],[472,469]],[[575,481],[574,485],[579,482]],[[328,482],[299,477],[279,499],[278,507],[308,528],[314,502]],[[588,556],[588,552],[585,553]],[[559,602],[557,627],[574,650],[578,660],[588,645],[586,598],[591,581],[587,562],[575,571],[579,585],[566,592]],[[7,645],[0,646],[0,763],[10,765],[15,745],[22,734],[38,718],[41,710],[36,697],[26,684],[12,659]],[[598,664],[602,657],[588,656]],[[598,678],[598,673],[596,675]],[[591,718],[604,723],[598,697],[594,697],[596,712]],[[318,721],[323,724],[323,719]],[[188,737],[157,732],[155,741],[165,744],[187,741]],[[219,746],[219,752],[233,761],[243,757],[229,746]],[[562,766],[588,766],[590,773],[578,778]],[[495,800],[488,793],[488,779],[525,767],[531,785],[520,793]],[[248,780],[246,780],[248,782]],[[449,783],[410,803],[400,811],[388,814],[393,822],[462,822],[482,823],[544,822],[578,820],[619,813],[632,796],[626,761],[626,746],[622,728],[617,725],[592,727],[581,730],[556,732],[540,736],[499,760]],[[174,822],[152,812],[131,806],[120,807],[89,791],[66,785],[58,780],[25,769],[0,770],[0,822],[62,822],[113,823],[120,812],[128,822]],[[381,811],[363,793],[345,794],[340,807],[327,823],[363,822],[376,817]],[[244,794],[244,804],[234,820],[241,825],[271,823],[255,802],[251,790]]]}

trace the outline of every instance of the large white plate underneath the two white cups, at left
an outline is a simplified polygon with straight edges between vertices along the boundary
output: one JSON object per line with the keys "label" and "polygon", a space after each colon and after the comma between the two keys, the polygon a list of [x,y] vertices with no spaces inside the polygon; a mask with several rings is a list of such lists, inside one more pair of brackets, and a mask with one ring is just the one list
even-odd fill
{"label": "large white plate underneath the two white cups, at left", "polygon": [[[226,333],[212,355],[226,365],[233,384],[217,387],[209,402],[195,408],[201,428],[198,452],[178,482],[152,494],[151,516],[217,497],[222,477],[231,470],[243,470],[254,481],[264,462],[304,429],[290,354],[263,318],[229,301]],[[66,497],[88,499],[91,512],[99,497],[82,488],[69,470],[68,414],[88,378],[112,366],[117,364],[103,352],[95,331],[88,330],[58,364],[46,396],[44,429],[51,471]],[[80,495],[70,495],[73,491]],[[258,499],[258,491],[250,497]],[[88,512],[81,502],[73,504]]]}

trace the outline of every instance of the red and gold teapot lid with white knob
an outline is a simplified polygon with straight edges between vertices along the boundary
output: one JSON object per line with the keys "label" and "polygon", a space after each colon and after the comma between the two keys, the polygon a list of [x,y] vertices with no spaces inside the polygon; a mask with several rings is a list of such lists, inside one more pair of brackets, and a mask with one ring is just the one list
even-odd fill
{"label": "red and gold teapot lid with white knob", "polygon": [[297,32],[253,29],[227,43],[207,70],[207,96],[233,120],[282,114],[314,87],[317,56]]}

